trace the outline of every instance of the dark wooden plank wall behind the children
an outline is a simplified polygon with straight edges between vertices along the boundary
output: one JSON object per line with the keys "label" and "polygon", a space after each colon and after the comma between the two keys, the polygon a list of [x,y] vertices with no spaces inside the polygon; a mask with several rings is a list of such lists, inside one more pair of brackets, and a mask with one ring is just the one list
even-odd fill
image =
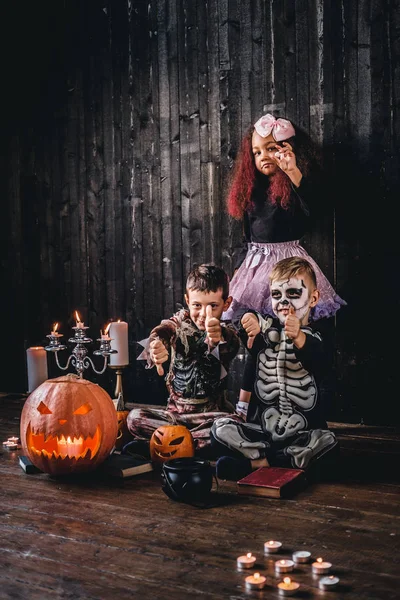
{"label": "dark wooden plank wall behind the children", "polygon": [[[93,338],[128,321],[129,399],[160,401],[136,341],[182,302],[194,263],[232,273],[229,176],[245,129],[273,111],[324,145],[338,184],[304,241],[349,303],[330,417],[398,421],[396,343],[372,333],[381,302],[366,296],[382,278],[386,310],[398,306],[399,20],[389,0],[8,3],[3,364],[15,374],[2,387],[23,391],[25,348],[54,321],[69,335],[79,310]],[[112,390],[112,374],[100,381]]]}

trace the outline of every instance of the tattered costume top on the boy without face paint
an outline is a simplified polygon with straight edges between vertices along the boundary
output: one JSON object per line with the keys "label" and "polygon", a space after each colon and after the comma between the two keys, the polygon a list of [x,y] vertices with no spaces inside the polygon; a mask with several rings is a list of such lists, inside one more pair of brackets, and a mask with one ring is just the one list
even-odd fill
{"label": "tattered costume top on the boy without face paint", "polygon": [[[240,342],[232,326],[221,323],[221,327],[223,341],[216,348],[210,348],[207,332],[197,328],[185,309],[161,321],[151,331],[146,340],[147,346],[159,338],[171,356],[166,377],[168,411],[203,413],[223,410],[225,376]],[[148,356],[148,365],[152,364]]]}

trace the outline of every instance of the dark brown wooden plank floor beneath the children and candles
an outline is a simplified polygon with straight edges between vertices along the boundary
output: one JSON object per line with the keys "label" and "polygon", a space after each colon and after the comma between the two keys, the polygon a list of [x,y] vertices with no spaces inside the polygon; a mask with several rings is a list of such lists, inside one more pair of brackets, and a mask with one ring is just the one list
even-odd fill
{"label": "dark brown wooden plank floor beneath the children and candles", "polygon": [[[1,441],[19,435],[24,398],[0,397]],[[297,598],[400,598],[400,442],[395,429],[332,424],[342,474],[291,500],[239,496],[222,482],[211,508],[170,500],[157,472],[118,483],[96,475],[27,475],[19,452],[0,456],[0,598],[279,598],[273,563],[295,550],[333,563],[336,591],[296,568]],[[394,466],[393,466],[394,465]],[[283,551],[263,556],[263,544]],[[247,592],[236,558],[257,556],[267,585]],[[255,569],[254,569],[255,570]],[[254,571],[252,571],[254,572]]]}

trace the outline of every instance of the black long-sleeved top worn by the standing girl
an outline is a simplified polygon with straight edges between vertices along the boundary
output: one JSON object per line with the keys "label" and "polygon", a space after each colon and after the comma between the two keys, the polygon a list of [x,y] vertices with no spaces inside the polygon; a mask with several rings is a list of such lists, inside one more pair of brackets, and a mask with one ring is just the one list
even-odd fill
{"label": "black long-sleeved top worn by the standing girl", "polygon": [[292,184],[289,208],[272,204],[267,198],[269,180],[257,178],[252,200],[254,208],[245,212],[243,217],[243,247],[237,254],[235,269],[245,259],[248,243],[279,243],[300,240],[310,229],[315,218],[318,204],[323,204],[319,185],[314,179],[302,177],[300,186]]}

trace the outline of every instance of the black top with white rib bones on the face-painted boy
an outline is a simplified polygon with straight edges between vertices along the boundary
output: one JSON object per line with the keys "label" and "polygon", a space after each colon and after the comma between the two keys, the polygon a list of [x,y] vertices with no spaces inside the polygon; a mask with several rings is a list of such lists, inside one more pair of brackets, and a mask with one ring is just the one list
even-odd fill
{"label": "black top with white rib bones on the face-painted boy", "polygon": [[[315,325],[302,327],[306,342],[299,349],[286,338],[278,319],[257,316],[262,332],[248,350],[252,361],[243,381],[243,389],[253,384],[248,422],[261,424],[274,442],[285,442],[298,431],[327,427],[319,397],[328,368],[321,334]],[[242,328],[240,337],[247,343]]]}

